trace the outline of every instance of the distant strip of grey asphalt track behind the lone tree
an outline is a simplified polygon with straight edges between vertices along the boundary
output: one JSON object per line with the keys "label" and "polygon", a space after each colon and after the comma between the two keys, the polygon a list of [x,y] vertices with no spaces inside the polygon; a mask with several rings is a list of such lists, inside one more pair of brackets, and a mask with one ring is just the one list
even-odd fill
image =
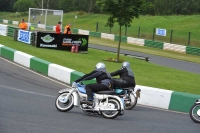
{"label": "distant strip of grey asphalt track behind the lone tree", "polygon": [[[115,52],[115,53],[117,52],[117,48],[106,47],[106,46],[101,46],[101,45],[89,44],[89,47],[94,48],[94,49],[109,51],[109,52]],[[176,59],[166,58],[166,57],[161,57],[161,56],[154,56],[151,54],[144,54],[144,53],[134,52],[130,50],[123,50],[123,49],[120,50],[120,54],[132,55],[134,58],[138,58],[138,59],[145,59],[145,57],[149,57],[149,62],[152,62],[154,64],[200,74],[200,64],[198,63],[176,60]]]}

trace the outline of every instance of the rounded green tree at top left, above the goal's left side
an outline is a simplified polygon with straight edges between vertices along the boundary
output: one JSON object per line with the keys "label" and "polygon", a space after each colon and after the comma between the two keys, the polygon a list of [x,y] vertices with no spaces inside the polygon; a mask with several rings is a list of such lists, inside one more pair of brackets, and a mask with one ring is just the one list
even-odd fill
{"label": "rounded green tree at top left, above the goal's left side", "polygon": [[34,8],[36,5],[33,3],[32,0],[17,0],[15,2],[13,8],[18,12],[28,11],[29,8]]}

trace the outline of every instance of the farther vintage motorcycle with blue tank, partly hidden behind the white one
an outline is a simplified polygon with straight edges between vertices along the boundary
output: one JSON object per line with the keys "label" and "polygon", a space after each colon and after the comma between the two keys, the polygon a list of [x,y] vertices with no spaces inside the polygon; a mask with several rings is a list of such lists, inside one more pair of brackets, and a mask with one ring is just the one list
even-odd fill
{"label": "farther vintage motorcycle with blue tank, partly hidden behind the white one", "polygon": [[120,98],[124,99],[124,109],[130,110],[137,104],[137,100],[140,98],[141,89],[137,89],[136,92],[134,92],[133,87],[116,88],[115,92]]}

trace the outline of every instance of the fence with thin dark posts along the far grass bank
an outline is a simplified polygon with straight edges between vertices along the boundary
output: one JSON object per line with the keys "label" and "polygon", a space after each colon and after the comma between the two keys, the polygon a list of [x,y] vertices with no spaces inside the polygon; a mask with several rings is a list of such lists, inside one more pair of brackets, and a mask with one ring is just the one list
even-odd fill
{"label": "fence with thin dark posts along the far grass bank", "polygon": [[[117,26],[117,25],[116,25]],[[84,29],[89,31],[94,31],[96,33],[108,33],[119,35],[119,28],[110,28],[105,27],[104,25],[100,25],[96,23],[96,25],[90,25],[88,27],[81,27],[76,25],[77,29]],[[155,27],[156,28],[156,27]],[[122,27],[122,36],[134,37],[147,39],[152,41],[160,41],[166,43],[173,43],[185,46],[195,46],[200,47],[200,40],[198,33],[184,31],[184,30],[176,30],[176,29],[166,29],[166,36],[158,36],[155,34],[155,28],[148,26],[131,26],[131,27]],[[97,35],[98,36],[98,35]]]}

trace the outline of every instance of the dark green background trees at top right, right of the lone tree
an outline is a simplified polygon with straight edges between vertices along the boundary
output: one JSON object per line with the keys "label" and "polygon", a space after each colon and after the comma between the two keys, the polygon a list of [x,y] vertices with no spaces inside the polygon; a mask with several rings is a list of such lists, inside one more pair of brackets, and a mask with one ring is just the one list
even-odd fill
{"label": "dark green background trees at top right, right of the lone tree", "polygon": [[192,15],[200,13],[200,0],[144,0],[142,14]]}

